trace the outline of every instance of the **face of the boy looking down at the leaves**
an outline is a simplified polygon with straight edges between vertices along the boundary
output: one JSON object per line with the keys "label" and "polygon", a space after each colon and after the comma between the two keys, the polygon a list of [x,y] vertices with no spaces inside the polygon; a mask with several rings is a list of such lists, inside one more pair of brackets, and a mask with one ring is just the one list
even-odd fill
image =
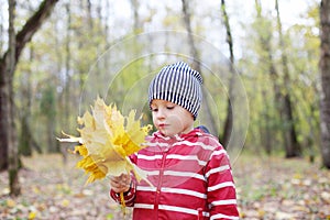
{"label": "face of the boy looking down at the leaves", "polygon": [[194,128],[193,114],[178,105],[154,99],[151,109],[154,125],[165,136],[188,133]]}

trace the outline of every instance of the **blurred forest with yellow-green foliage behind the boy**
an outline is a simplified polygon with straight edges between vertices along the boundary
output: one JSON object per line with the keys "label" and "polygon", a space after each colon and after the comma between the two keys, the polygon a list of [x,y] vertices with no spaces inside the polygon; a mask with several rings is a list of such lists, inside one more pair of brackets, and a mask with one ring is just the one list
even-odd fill
{"label": "blurred forest with yellow-green foliage behind the boy", "polygon": [[[56,1],[45,2],[55,6]],[[6,0],[0,3],[1,80],[4,80],[3,62],[11,41],[9,3]],[[24,38],[24,45],[19,44],[21,30],[42,3],[15,4],[15,43],[21,51],[12,79],[6,80],[12,80],[12,127],[20,154],[62,152],[56,136],[62,131],[76,132],[77,116],[89,110],[98,95],[123,111],[133,108],[144,112],[145,123],[151,123],[146,103],[151,75],[163,65],[185,59],[199,65],[205,78],[207,108],[202,109],[201,122],[226,146],[235,121],[231,112],[231,99],[238,98],[235,85],[229,86],[231,73],[235,72],[249,101],[249,119],[243,119],[249,123],[246,135],[242,132],[244,150],[285,157],[308,156],[310,161],[323,154],[323,160],[328,158],[324,166],[329,167],[329,69],[321,65],[322,75],[319,70],[320,40],[327,42],[329,36],[320,35],[320,1],[306,1],[295,18],[299,22],[295,22],[283,15],[288,4],[279,0],[255,0],[249,3],[248,11],[237,0],[204,3],[61,0],[48,12],[50,18],[43,16],[43,25],[31,24],[37,25],[29,35],[31,41]],[[323,28],[327,22],[323,21]],[[184,42],[173,40],[170,32],[164,32],[162,41],[158,34],[143,37],[143,33],[158,30],[189,34]],[[141,41],[136,34],[142,34]],[[208,54],[194,37],[209,42],[221,55]],[[324,55],[329,50],[323,45]],[[170,46],[178,51],[189,48],[187,54],[173,54],[168,51]],[[322,61],[321,64],[328,63]],[[222,69],[224,64],[230,70]],[[7,99],[1,97],[1,108],[3,100]],[[320,101],[324,103],[322,111]],[[4,131],[11,127],[1,122],[1,128]],[[322,141],[321,133],[326,135]],[[9,145],[0,134],[0,165],[4,169]]]}

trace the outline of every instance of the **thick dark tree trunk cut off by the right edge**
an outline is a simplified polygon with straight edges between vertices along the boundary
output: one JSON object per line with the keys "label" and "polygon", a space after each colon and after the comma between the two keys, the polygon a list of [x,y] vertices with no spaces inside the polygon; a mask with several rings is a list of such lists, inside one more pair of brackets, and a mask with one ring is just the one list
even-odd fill
{"label": "thick dark tree trunk cut off by the right edge", "polygon": [[330,169],[330,0],[322,0],[320,6],[321,22],[321,100],[320,129],[322,165]]}

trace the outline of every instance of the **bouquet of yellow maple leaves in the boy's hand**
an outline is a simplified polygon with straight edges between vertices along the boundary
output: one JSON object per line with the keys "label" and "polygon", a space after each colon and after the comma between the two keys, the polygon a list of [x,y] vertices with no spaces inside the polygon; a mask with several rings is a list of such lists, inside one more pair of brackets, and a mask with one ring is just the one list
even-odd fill
{"label": "bouquet of yellow maple leaves in the boy's hand", "polygon": [[[133,172],[136,179],[146,179],[146,173],[131,163],[129,155],[140,151],[145,145],[145,136],[152,127],[141,127],[135,120],[135,111],[131,110],[123,117],[114,105],[107,106],[101,98],[97,98],[91,113],[86,111],[78,117],[80,136],[65,134],[68,139],[61,142],[79,142],[74,153],[82,156],[77,167],[84,168],[89,177],[86,184],[102,179],[107,175],[119,176]],[[147,182],[148,183],[148,182]],[[120,195],[124,211],[123,195]]]}

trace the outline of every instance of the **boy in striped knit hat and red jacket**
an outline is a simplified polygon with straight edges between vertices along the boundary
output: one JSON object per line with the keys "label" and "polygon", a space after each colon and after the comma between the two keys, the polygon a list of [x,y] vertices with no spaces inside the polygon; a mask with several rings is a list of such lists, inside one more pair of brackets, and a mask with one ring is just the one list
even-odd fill
{"label": "boy in striped knit hat and red jacket", "polygon": [[111,177],[111,197],[134,207],[133,219],[239,219],[235,187],[227,152],[218,140],[194,129],[201,103],[200,74],[186,63],[165,66],[148,89],[157,131],[131,161],[147,170],[140,183]]}

